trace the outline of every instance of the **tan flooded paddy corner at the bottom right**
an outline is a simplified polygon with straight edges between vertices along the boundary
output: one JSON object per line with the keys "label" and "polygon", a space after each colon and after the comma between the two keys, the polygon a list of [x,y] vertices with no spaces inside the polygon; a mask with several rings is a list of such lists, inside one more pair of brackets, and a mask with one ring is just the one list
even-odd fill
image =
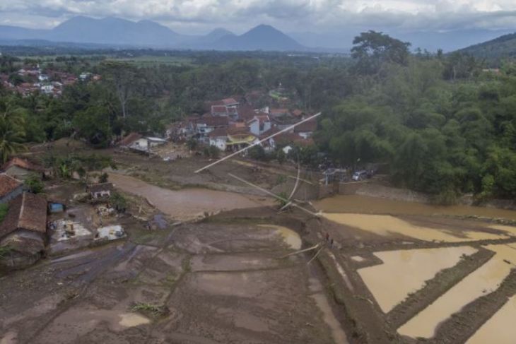
{"label": "tan flooded paddy corner at the bottom right", "polygon": [[516,296],[511,297],[479,331],[469,338],[466,344],[514,344],[516,338],[514,319],[516,319]]}

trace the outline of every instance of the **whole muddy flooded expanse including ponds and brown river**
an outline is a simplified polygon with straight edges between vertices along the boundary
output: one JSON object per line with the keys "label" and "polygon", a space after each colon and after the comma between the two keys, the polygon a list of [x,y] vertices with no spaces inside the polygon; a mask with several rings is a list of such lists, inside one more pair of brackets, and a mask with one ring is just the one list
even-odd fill
{"label": "whole muddy flooded expanse including ponds and brown river", "polygon": [[168,228],[0,278],[1,344],[514,343],[515,212],[350,195],[278,214],[228,172],[272,189],[289,167],[102,153]]}

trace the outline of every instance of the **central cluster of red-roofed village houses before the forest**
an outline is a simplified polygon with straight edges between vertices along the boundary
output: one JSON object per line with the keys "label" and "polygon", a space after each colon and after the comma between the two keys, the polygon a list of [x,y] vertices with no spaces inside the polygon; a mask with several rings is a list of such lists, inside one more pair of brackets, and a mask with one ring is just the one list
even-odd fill
{"label": "central cluster of red-roofed village houses before the forest", "polygon": [[[294,126],[312,114],[298,108],[256,107],[257,102],[253,102],[251,96],[256,92],[205,102],[204,114],[193,114],[171,124],[165,138],[131,133],[120,141],[119,146],[152,153],[152,148],[166,143],[166,140],[176,143],[195,140],[201,145],[216,147],[221,152],[234,152],[266,139],[261,143],[266,153],[274,152],[277,147],[282,147],[288,153],[293,145],[313,144],[311,136],[317,129],[315,119]],[[291,130],[269,138],[291,126],[294,126]]]}

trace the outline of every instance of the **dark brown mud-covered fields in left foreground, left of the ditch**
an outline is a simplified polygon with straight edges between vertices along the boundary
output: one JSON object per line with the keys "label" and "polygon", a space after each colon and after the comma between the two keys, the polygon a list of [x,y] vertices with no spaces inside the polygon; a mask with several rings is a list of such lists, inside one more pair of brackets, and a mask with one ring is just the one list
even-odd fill
{"label": "dark brown mud-covered fields in left foreground, left of the ditch", "polygon": [[0,341],[332,343],[312,297],[324,292],[312,288],[317,274],[303,255],[281,258],[292,248],[266,225],[130,232],[6,275]]}

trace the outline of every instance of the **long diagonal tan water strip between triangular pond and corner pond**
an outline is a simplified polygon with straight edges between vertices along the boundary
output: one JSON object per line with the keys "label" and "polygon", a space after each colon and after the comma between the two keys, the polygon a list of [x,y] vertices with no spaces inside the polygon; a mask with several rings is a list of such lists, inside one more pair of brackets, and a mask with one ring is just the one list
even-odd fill
{"label": "long diagonal tan water strip between triangular pond and corner pond", "polygon": [[[398,332],[412,338],[431,338],[441,321],[459,312],[474,299],[496,290],[509,275],[510,270],[516,267],[516,244],[486,245],[485,247],[496,252],[495,256],[401,326]],[[490,342],[498,343],[497,340],[490,340]]]}

